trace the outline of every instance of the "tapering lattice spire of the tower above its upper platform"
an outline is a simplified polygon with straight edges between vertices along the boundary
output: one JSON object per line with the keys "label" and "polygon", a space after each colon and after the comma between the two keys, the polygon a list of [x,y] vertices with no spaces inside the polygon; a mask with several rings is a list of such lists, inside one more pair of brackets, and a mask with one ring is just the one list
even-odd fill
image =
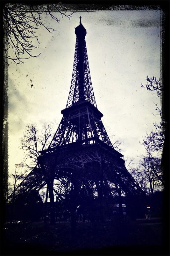
{"label": "tapering lattice spire of the tower above its upper platform", "polygon": [[81,16],[79,18],[80,25],[75,28],[76,43],[73,74],[66,108],[84,101],[88,101],[97,107],[91,83],[89,60],[86,48],[85,36],[87,32],[81,23]]}

